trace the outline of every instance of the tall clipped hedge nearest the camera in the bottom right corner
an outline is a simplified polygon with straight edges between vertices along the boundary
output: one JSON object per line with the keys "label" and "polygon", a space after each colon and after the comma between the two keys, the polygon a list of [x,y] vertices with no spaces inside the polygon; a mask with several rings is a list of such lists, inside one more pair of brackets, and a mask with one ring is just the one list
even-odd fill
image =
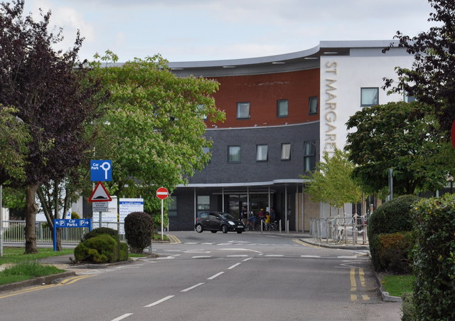
{"label": "tall clipped hedge nearest the camera in the bottom right corner", "polygon": [[455,320],[455,198],[423,199],[412,210],[417,320]]}

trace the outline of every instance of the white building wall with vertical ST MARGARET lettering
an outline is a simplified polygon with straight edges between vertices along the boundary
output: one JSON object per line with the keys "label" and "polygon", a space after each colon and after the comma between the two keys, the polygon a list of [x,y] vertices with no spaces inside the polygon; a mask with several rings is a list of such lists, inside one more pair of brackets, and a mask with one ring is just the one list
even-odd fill
{"label": "white building wall with vertical ST MARGARET lettering", "polygon": [[320,159],[326,150],[343,149],[349,117],[360,110],[360,88],[379,88],[380,105],[403,100],[403,95],[387,95],[383,78],[397,78],[395,67],[410,68],[413,57],[404,49],[353,48],[349,56],[321,56]]}

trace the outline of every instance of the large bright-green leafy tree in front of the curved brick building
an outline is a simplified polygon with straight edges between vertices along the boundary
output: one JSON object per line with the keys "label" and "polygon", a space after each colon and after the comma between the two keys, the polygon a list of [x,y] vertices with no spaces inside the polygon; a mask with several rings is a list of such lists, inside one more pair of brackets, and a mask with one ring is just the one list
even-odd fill
{"label": "large bright-green leafy tree in front of the curved brick building", "polygon": [[[97,56],[100,58],[100,56]],[[107,51],[101,61],[117,61]],[[204,78],[178,78],[157,55],[122,65],[93,64],[109,91],[105,117],[93,131],[99,138],[95,159],[112,159],[110,194],[144,196],[148,211],[160,209],[156,189],[184,184],[210,157],[204,115],[223,120],[211,96],[218,83]]]}

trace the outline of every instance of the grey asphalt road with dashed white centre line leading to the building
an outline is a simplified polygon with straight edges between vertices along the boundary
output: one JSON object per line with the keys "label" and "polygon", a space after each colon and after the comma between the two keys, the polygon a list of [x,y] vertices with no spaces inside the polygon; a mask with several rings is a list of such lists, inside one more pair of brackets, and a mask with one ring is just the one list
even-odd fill
{"label": "grey asphalt road with dashed white centre line leading to the building", "polygon": [[154,244],[159,258],[0,293],[0,320],[394,320],[362,251],[286,235],[171,234],[181,243]]}

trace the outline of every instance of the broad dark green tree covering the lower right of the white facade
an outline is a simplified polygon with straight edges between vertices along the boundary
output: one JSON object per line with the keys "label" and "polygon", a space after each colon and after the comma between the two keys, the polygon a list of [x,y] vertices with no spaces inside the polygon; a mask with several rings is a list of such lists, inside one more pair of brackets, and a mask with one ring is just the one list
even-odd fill
{"label": "broad dark green tree covering the lower right of the white facade", "polygon": [[453,150],[442,142],[431,107],[420,102],[389,102],[365,107],[346,123],[345,149],[357,165],[353,175],[371,194],[388,186],[393,169],[394,194],[435,190],[454,169]]}

